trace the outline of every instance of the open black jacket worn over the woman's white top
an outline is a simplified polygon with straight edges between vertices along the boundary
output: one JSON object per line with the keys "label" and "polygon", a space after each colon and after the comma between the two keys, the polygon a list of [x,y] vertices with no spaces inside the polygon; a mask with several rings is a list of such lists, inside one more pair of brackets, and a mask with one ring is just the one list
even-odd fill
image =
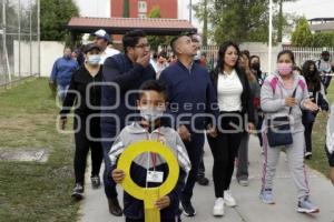
{"label": "open black jacket worn over the woman's white top", "polygon": [[[243,84],[243,93],[242,93],[242,113],[247,114],[248,117],[248,122],[254,123],[254,108],[253,108],[253,95],[252,95],[252,91],[250,91],[250,87],[249,87],[249,82],[247,80],[247,77],[245,74],[245,72],[236,67],[235,71]],[[214,71],[210,72],[210,78],[215,88],[215,93],[216,97],[218,98],[218,74],[219,74],[220,69],[215,69]]]}

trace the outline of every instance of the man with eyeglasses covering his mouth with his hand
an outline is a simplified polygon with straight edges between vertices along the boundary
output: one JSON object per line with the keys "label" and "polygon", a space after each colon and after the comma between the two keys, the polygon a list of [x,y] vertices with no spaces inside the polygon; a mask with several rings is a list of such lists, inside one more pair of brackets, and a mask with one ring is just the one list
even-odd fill
{"label": "man with eyeglasses covering his mouth with his hand", "polygon": [[[156,72],[149,63],[150,47],[146,33],[141,30],[127,32],[122,38],[124,53],[106,59],[104,63],[102,79],[105,83],[117,84],[115,87],[104,84],[101,87],[101,137],[105,158],[105,192],[108,199],[109,212],[116,216],[122,215],[122,210],[117,199],[116,183],[111,179],[111,163],[109,151],[114,139],[126,124],[126,118],[135,113],[136,95],[127,92],[138,90],[141,83],[156,78]],[[115,109],[118,101],[119,105]],[[130,105],[130,107],[128,107]],[[116,119],[117,118],[117,119]]]}

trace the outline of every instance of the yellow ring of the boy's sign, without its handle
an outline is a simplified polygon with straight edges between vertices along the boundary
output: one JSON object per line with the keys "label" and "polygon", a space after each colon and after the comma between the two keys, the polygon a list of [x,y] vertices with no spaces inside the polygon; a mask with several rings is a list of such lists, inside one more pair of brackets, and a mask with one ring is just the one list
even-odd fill
{"label": "yellow ring of the boy's sign, without its handle", "polygon": [[[130,176],[131,162],[136,157],[144,152],[153,152],[163,157],[169,168],[169,173],[166,181],[158,188],[141,188],[137,185]],[[173,153],[173,151],[158,141],[140,141],[130,144],[120,155],[117,164],[117,169],[125,172],[125,179],[121,182],[124,190],[138,200],[145,200],[147,196],[147,191],[159,189],[159,195],[167,195],[175,188],[178,174],[179,165]]]}

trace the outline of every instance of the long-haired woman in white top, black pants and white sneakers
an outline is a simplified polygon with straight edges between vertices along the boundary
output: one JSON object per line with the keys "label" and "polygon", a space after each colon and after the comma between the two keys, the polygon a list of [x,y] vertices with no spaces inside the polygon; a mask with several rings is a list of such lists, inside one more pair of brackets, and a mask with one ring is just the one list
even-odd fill
{"label": "long-haired woman in white top, black pants and white sneakers", "polygon": [[220,112],[217,130],[210,130],[207,137],[214,157],[216,201],[213,214],[216,216],[224,215],[224,204],[236,205],[229,192],[234,160],[243,132],[254,129],[252,92],[244,71],[237,65],[238,60],[238,46],[225,42],[219,47],[217,65],[212,73]]}

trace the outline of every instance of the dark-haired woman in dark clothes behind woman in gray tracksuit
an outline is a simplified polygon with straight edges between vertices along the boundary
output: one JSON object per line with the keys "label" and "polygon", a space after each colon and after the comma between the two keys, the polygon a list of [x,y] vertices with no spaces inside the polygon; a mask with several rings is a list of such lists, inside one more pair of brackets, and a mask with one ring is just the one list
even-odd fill
{"label": "dark-haired woman in dark clothes behind woman in gray tracksuit", "polygon": [[[328,111],[328,103],[325,99],[324,85],[321,81],[320,72],[312,60],[306,61],[303,64],[303,75],[306,80],[310,99],[316,103],[321,110]],[[315,121],[317,112],[303,111],[303,124],[305,127],[305,159],[311,159],[312,157],[312,129]]]}

